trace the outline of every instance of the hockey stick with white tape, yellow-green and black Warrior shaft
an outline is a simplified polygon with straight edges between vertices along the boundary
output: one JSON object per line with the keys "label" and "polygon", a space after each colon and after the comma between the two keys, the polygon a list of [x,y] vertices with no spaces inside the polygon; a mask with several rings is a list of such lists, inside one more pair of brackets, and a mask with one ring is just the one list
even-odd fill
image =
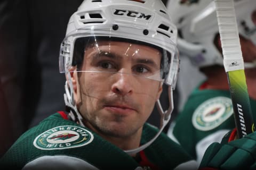
{"label": "hockey stick with white tape, yellow-green and black Warrior shaft", "polygon": [[238,138],[254,131],[233,0],[214,0]]}

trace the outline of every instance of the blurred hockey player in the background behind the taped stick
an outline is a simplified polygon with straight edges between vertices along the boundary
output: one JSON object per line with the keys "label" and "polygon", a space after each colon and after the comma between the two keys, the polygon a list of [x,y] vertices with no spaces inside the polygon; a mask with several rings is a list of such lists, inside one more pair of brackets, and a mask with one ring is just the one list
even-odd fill
{"label": "blurred hockey player in the background behind the taped stick", "polygon": [[[235,128],[233,107],[214,2],[175,2],[170,1],[167,9],[180,32],[178,48],[199,67],[206,80],[187,99],[173,135],[200,162],[210,143],[220,142],[224,134]],[[234,5],[252,112],[256,113],[256,1],[234,1]]]}

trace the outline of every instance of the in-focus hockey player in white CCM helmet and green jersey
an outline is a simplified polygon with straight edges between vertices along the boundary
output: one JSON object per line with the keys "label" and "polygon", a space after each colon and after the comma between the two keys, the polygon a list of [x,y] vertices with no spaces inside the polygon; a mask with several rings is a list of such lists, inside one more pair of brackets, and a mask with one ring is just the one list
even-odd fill
{"label": "in-focus hockey player in white CCM helmet and green jersey", "polygon": [[[60,49],[68,114],[55,113],[21,135],[0,166],[195,169],[187,152],[161,133],[173,110],[176,42],[177,29],[161,1],[84,1]],[[158,101],[163,83],[169,86],[166,111]],[[155,103],[159,130],[145,123]]]}

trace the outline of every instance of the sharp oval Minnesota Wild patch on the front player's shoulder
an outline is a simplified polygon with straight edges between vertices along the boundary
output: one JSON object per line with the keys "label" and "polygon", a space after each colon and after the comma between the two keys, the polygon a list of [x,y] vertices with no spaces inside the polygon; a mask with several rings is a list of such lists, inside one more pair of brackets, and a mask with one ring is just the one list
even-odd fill
{"label": "sharp oval Minnesota Wild patch on the front player's shoulder", "polygon": [[47,130],[36,137],[33,144],[42,150],[68,149],[88,145],[93,134],[78,126],[58,126]]}

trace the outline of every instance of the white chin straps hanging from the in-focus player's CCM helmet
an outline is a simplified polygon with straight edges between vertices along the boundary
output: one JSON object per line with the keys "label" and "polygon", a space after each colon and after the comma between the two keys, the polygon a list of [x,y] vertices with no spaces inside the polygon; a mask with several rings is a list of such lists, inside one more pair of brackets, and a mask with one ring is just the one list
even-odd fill
{"label": "white chin straps hanging from the in-focus player's CCM helmet", "polygon": [[[75,101],[74,101],[73,84],[71,82],[71,75],[69,72],[67,74],[67,77],[68,77],[68,79],[65,83],[66,94],[64,94],[64,100],[65,100],[66,106],[70,109],[69,116],[71,117],[71,119],[73,121],[78,122],[78,124],[85,127],[85,125],[83,123],[83,117],[78,112]],[[156,138],[159,136],[159,134],[161,134],[161,132],[163,131],[166,124],[170,121],[171,113],[173,111],[173,90],[172,90],[171,86],[169,86],[168,91],[169,91],[169,108],[167,111],[163,111],[163,108],[162,108],[162,105],[161,105],[159,99],[156,102],[156,106],[157,106],[159,115],[161,116],[159,131],[157,132],[157,134],[155,135],[155,137],[153,139],[151,139],[144,145],[142,145],[136,149],[124,150],[127,154],[135,155],[138,152],[140,152],[141,150],[147,148],[151,143],[153,143],[156,140]]]}

